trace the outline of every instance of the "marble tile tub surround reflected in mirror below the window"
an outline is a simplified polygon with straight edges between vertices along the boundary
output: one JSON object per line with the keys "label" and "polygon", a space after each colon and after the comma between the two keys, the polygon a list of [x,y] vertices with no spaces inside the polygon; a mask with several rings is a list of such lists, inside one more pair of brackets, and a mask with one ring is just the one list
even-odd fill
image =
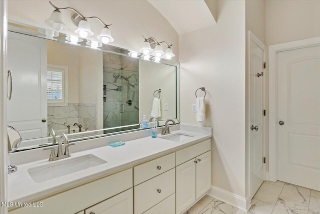
{"label": "marble tile tub surround reflected in mirror below the window", "polygon": [[83,103],[68,103],[67,106],[49,106],[47,109],[48,129],[73,128],[74,123],[81,124],[83,131],[96,129],[96,105]]}

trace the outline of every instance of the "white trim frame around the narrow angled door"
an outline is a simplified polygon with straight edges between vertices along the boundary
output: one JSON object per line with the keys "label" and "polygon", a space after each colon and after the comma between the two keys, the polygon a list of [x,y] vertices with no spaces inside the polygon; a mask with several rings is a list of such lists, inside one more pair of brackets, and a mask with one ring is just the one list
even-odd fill
{"label": "white trim frame around the narrow angled door", "polygon": [[[250,141],[250,102],[251,102],[251,99],[250,99],[250,89],[251,89],[251,83],[250,83],[250,71],[251,71],[251,68],[250,68],[250,55],[251,55],[251,41],[254,42],[261,50],[263,50],[263,61],[265,62],[265,58],[266,58],[266,46],[251,32],[251,31],[248,31],[247,33],[247,50],[248,50],[248,55],[247,55],[247,68],[248,68],[248,72],[247,72],[247,99],[246,99],[246,102],[247,102],[247,124],[246,124],[246,130],[247,130],[247,142],[248,142],[248,177],[249,177],[249,183],[248,183],[248,191],[249,191],[249,195],[250,195],[250,199],[251,197],[253,197],[253,195],[251,195],[251,182],[252,182],[252,179],[251,179],[251,141]],[[266,74],[266,69],[264,70],[264,74]],[[265,76],[264,76],[265,77]],[[263,109],[265,109],[266,107],[266,102],[265,102],[265,97],[266,97],[266,90],[265,90],[265,78],[262,79],[262,91],[263,91]],[[266,137],[266,117],[262,117],[262,123],[263,123],[263,130],[262,130],[262,134],[263,134],[263,156],[266,157],[266,140],[265,140],[265,137]],[[266,162],[267,163],[267,162]],[[266,178],[266,164],[264,166],[264,179]]]}

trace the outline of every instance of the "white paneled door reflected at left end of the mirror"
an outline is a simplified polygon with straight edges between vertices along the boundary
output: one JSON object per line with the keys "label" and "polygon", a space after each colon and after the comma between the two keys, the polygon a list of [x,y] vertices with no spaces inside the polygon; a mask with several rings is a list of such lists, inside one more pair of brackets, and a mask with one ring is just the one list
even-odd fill
{"label": "white paneled door reflected at left end of the mirror", "polygon": [[12,72],[7,124],[22,139],[46,136],[46,40],[8,32],[7,62]]}

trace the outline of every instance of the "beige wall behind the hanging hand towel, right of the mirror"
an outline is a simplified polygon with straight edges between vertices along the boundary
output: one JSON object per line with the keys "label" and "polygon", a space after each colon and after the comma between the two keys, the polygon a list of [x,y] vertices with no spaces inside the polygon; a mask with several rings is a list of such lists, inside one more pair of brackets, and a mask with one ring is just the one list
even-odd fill
{"label": "beige wall behind the hanging hand towel, right of the mirror", "polygon": [[[218,1],[213,27],[179,37],[181,122],[212,126],[212,185],[245,196],[245,3]],[[206,120],[197,123],[194,92],[206,88]]]}

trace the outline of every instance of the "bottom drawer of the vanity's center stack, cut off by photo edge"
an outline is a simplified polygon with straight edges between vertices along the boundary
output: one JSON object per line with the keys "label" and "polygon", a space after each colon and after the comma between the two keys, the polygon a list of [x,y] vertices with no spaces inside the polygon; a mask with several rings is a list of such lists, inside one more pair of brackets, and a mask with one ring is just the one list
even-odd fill
{"label": "bottom drawer of the vanity's center stack, cut off by photo edge", "polygon": [[175,214],[175,193],[171,194],[143,214]]}

